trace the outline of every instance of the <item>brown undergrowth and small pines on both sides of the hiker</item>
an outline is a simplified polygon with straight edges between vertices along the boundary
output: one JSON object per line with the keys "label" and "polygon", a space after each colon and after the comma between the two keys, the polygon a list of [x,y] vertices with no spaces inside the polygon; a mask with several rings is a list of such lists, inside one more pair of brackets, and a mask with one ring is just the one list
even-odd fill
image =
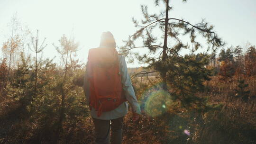
{"label": "brown undergrowth and small pines on both sides of the hiker", "polygon": [[[26,74],[29,72],[22,72],[16,83],[13,81],[1,89],[0,144],[93,144],[93,123],[81,80],[79,83],[82,72],[66,85],[73,90],[65,98],[65,118],[58,140],[55,137],[60,123],[61,97],[54,92],[60,89],[60,81],[56,80],[58,72],[49,71],[47,82],[39,79],[44,86],[31,101],[27,98],[33,95],[33,90],[27,87],[30,81],[26,81],[29,78]],[[142,115],[137,122],[132,122],[130,112],[125,117],[124,144],[255,144],[256,93],[252,85],[247,87],[251,93],[245,101],[237,95],[236,81],[222,83],[219,76],[211,77],[204,83],[207,90],[198,95],[209,97],[209,103],[219,108],[198,113],[180,108],[175,102],[160,105],[164,97],[158,93],[160,90],[161,94],[159,80],[150,78],[133,79]]]}

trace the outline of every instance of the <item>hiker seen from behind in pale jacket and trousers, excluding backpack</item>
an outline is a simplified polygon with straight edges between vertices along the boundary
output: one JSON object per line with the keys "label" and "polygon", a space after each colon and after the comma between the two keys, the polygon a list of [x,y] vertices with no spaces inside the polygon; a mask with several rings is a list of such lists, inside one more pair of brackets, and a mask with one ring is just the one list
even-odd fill
{"label": "hiker seen from behind in pale jacket and trousers, excluding backpack", "polygon": [[[116,42],[113,35],[110,32],[103,32],[101,35],[101,43],[99,48],[116,48]],[[98,49],[99,49],[98,48]],[[115,50],[116,51],[116,50]],[[101,57],[101,55],[99,55]],[[119,72],[121,74],[121,84],[125,95],[125,99],[133,109],[133,120],[137,121],[140,114],[140,107],[133,90],[130,77],[127,72],[127,65],[125,57],[118,55],[119,59]],[[90,103],[90,67],[87,66],[84,76],[84,91],[88,103]],[[107,82],[107,81],[106,81]],[[110,144],[110,128],[111,128],[111,144],[122,143],[122,126],[123,118],[128,112],[128,103],[123,102],[117,108],[110,111],[103,111],[99,116],[98,111],[95,108],[91,108],[91,117],[95,126],[96,144]],[[111,122],[111,124],[110,124]]]}

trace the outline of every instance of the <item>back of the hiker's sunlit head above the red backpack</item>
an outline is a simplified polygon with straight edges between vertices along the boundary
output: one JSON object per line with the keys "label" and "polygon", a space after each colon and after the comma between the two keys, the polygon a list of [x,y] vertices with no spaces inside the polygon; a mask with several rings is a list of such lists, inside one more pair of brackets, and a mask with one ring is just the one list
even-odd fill
{"label": "back of the hiker's sunlit head above the red backpack", "polygon": [[102,33],[100,47],[116,48],[115,38],[109,31]]}

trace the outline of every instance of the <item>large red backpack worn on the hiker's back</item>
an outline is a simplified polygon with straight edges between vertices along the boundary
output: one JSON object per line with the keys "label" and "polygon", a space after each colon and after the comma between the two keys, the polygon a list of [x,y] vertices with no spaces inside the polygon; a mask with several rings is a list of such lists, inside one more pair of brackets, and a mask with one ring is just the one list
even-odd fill
{"label": "large red backpack worn on the hiker's back", "polygon": [[122,93],[119,57],[115,48],[93,48],[88,56],[88,80],[90,82],[90,109],[104,111],[117,108],[126,101]]}

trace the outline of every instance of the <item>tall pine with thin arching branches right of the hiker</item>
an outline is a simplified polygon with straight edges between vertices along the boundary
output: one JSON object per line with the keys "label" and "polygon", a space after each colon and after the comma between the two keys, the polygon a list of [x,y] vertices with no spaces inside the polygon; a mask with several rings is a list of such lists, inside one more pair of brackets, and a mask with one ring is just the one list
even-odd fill
{"label": "tall pine with thin arching branches right of the hiker", "polygon": [[[194,75],[188,76],[189,72],[186,73],[187,71],[185,71],[187,69],[187,66],[189,66],[189,63],[199,64],[199,62],[194,59],[183,58],[183,56],[179,54],[182,49],[190,48],[189,45],[182,42],[180,36],[188,35],[190,37],[190,41],[193,45],[192,48],[194,51],[202,47],[202,45],[197,41],[197,35],[200,34],[201,36],[206,38],[209,48],[212,48],[213,50],[220,46],[223,46],[224,43],[213,31],[213,26],[207,23],[204,19],[202,19],[200,23],[191,24],[190,22],[183,19],[172,18],[169,16],[170,10],[173,9],[170,6],[170,0],[154,1],[156,7],[161,4],[160,2],[163,2],[165,5],[165,12],[160,12],[159,14],[149,14],[147,6],[142,5],[141,10],[144,19],[141,20],[141,24],[139,24],[139,22],[135,18],[132,19],[135,27],[139,27],[139,29],[133,35],[128,37],[128,40],[125,41],[126,45],[120,47],[120,50],[126,56],[129,55],[129,61],[133,61],[133,56],[135,56],[140,63],[147,63],[148,67],[151,67],[159,72],[163,81],[163,90],[172,91],[171,93],[173,93],[173,91],[176,91],[175,88],[177,88],[178,91],[184,91],[184,87],[190,87],[189,84],[186,83],[183,84],[182,87],[175,87],[170,90],[170,85],[174,86],[174,78],[183,79],[184,77],[189,77],[189,79],[193,81],[193,84],[199,84],[201,82],[201,79],[196,78],[198,76],[197,74],[195,74],[195,77],[193,77]],[[157,27],[159,27],[160,31],[162,32],[162,35],[160,36],[154,35],[153,30],[157,29]],[[136,40],[140,39],[142,40],[143,45],[135,45]],[[172,39],[173,41],[175,41],[172,44],[174,46],[167,45],[168,39]],[[146,48],[147,54],[132,52],[132,50],[135,48]],[[194,66],[196,68],[203,65]],[[200,72],[204,71],[202,70]],[[205,73],[203,73],[202,75],[204,74]],[[192,90],[190,88],[188,90]],[[191,93],[191,95],[187,95],[188,93]],[[177,97],[179,97],[180,101],[189,103],[194,99],[190,98],[193,92],[190,91],[188,93]]]}

